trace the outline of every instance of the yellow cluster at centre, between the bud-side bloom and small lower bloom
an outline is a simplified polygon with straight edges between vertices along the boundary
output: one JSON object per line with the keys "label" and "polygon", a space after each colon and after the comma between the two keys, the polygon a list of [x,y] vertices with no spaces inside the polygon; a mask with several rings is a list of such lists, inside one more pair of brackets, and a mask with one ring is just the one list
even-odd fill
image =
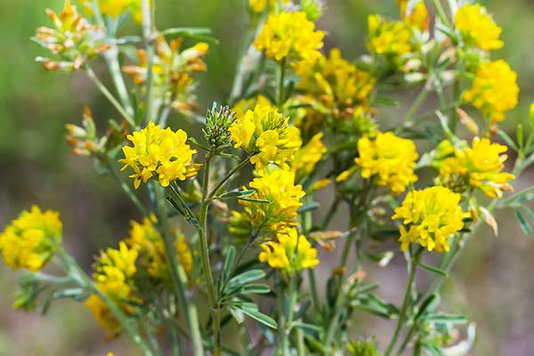
{"label": "yellow cluster at centre, between the bud-side bloom and small lower bloom", "polygon": [[295,185],[293,172],[265,169],[248,185],[255,193],[239,200],[244,212],[232,212],[230,231],[236,238],[272,237],[297,224],[297,209],[305,193],[301,185]]}

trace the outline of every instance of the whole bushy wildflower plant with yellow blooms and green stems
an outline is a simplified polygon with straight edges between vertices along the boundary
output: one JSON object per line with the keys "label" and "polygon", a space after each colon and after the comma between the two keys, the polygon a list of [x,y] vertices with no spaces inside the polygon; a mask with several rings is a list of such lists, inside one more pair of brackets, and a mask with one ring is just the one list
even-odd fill
{"label": "whole bushy wildflower plant with yellow blooms and green stems", "polygon": [[[4,263],[26,270],[14,305],[84,303],[144,356],[434,355],[460,343],[467,354],[474,326],[441,312],[441,285],[482,223],[498,233],[494,214],[513,209],[528,235],[534,217],[532,187],[512,192],[534,163],[534,135],[498,128],[519,88],[490,53],[503,42],[489,10],[400,0],[398,19],[368,16],[368,53],[349,59],[323,52],[319,0],[244,2],[247,65],[225,105],[201,117],[195,77],[209,75],[206,42],[217,42],[207,28],[159,30],[156,3],[66,0],[59,15],[47,10],[54,28],[37,28],[54,55],[38,58],[44,68],[79,69],[117,109],[106,134],[86,108],[66,137],[140,216],[86,273],[61,245],[59,213],[22,212],[0,233]],[[127,20],[142,37],[117,36]],[[123,56],[131,45],[135,59]],[[388,120],[384,87],[419,94]],[[367,273],[395,256],[408,270],[400,305]],[[415,283],[421,272],[431,287]],[[364,336],[361,313],[392,323],[392,335]],[[225,337],[236,328],[246,337]]]}

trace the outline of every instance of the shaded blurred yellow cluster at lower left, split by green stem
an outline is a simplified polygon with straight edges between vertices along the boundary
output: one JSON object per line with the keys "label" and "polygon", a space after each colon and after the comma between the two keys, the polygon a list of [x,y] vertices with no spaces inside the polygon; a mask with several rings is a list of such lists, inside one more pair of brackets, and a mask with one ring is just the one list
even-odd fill
{"label": "shaded blurred yellow cluster at lower left, split by green stem", "polygon": [[[154,279],[170,280],[170,271],[166,261],[165,245],[158,230],[152,222],[156,218],[144,218],[142,223],[132,221],[130,224],[130,237],[126,239],[128,246],[134,248],[141,255],[140,264],[146,268]],[[178,260],[183,270],[190,274],[193,268],[193,255],[182,233],[178,235],[175,243]]]}

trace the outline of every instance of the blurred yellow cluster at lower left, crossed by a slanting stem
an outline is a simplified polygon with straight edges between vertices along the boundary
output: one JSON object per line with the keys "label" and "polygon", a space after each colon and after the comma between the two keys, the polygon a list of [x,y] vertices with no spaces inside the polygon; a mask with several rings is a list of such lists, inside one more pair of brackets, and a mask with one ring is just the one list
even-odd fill
{"label": "blurred yellow cluster at lower left, crossed by a slanting stem", "polygon": [[[134,248],[128,248],[125,242],[120,242],[119,248],[108,248],[102,252],[93,279],[99,291],[126,313],[131,314],[133,307],[128,302],[138,301],[134,295],[133,277],[137,268],[135,260],[139,254]],[[118,332],[120,327],[108,305],[99,295],[90,295],[85,305],[97,320],[101,328],[111,332]]]}

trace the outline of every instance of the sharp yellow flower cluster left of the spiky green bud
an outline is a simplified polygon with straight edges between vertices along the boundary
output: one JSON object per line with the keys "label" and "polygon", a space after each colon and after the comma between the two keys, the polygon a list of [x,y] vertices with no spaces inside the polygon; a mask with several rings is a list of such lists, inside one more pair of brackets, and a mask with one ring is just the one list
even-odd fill
{"label": "sharp yellow flower cluster left of the spiky green bud", "polygon": [[187,134],[183,130],[174,132],[169,127],[162,129],[159,125],[150,122],[141,131],[135,131],[127,136],[134,143],[134,147],[125,146],[123,152],[125,158],[120,159],[124,163],[123,170],[130,166],[134,169],[135,189],[141,182],[148,182],[150,178],[158,176],[158,180],[164,187],[171,181],[181,180],[195,176],[200,168],[192,163],[193,154],[186,144]]}

